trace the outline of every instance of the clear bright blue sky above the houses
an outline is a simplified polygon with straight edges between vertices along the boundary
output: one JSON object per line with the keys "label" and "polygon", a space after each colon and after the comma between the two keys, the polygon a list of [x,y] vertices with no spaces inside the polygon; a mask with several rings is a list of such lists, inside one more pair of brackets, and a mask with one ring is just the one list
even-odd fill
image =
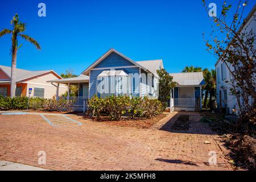
{"label": "clear bright blue sky above the houses", "polygon": [[[38,16],[40,2],[46,4],[46,17]],[[220,1],[210,2],[220,9]],[[214,68],[216,62],[202,38],[212,29],[201,0],[13,0],[1,1],[0,10],[0,30],[11,28],[18,13],[27,23],[25,33],[42,47],[38,51],[19,39],[17,67],[22,69],[72,69],[79,75],[112,47],[135,61],[163,59],[168,72],[181,72],[186,65]],[[1,65],[11,65],[10,48],[11,36],[0,38]]]}

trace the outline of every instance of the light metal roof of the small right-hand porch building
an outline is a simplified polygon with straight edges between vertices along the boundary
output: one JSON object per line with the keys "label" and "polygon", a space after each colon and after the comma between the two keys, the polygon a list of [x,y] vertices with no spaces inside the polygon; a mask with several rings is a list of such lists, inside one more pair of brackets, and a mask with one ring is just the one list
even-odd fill
{"label": "light metal roof of the small right-hand porch building", "polygon": [[189,73],[170,73],[172,81],[179,85],[204,85],[203,72],[189,72]]}

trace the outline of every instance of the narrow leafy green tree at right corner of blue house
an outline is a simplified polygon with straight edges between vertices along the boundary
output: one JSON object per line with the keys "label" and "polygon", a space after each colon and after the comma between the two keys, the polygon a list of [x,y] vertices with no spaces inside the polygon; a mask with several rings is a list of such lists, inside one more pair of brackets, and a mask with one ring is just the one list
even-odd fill
{"label": "narrow leafy green tree at right corner of blue house", "polygon": [[174,88],[176,83],[172,81],[172,76],[165,69],[159,69],[157,73],[159,76],[159,100],[165,108],[167,101],[171,98],[171,89]]}

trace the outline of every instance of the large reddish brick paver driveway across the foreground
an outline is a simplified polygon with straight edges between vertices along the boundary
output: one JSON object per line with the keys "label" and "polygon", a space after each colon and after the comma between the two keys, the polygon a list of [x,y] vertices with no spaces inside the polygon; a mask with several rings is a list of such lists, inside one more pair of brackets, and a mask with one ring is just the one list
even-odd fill
{"label": "large reddish brick paver driveway across the foreground", "polygon": [[[175,114],[151,129],[109,126],[77,115],[69,117],[81,126],[63,127],[40,115],[0,115],[0,160],[55,170],[232,169],[218,136],[197,123],[199,114],[189,113],[192,125],[184,133],[170,130]],[[38,164],[39,151],[46,152],[46,165]],[[217,153],[216,165],[209,165],[209,151]]]}

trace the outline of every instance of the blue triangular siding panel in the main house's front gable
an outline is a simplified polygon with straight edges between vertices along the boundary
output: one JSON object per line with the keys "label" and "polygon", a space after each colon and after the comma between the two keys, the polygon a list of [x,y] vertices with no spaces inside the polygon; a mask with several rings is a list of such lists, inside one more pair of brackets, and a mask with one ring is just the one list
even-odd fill
{"label": "blue triangular siding panel in the main house's front gable", "polygon": [[112,52],[104,60],[98,63],[94,68],[122,67],[134,65],[117,53]]}

